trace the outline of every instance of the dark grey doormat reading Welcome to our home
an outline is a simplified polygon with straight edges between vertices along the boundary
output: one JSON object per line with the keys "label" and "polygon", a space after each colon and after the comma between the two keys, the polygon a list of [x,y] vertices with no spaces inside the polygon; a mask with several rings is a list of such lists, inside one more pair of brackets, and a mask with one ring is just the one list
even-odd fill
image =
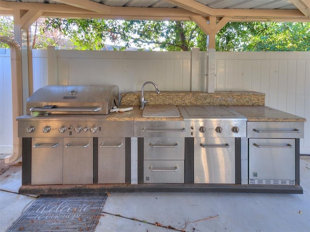
{"label": "dark grey doormat reading Welcome to our home", "polygon": [[42,195],[8,232],[93,232],[107,194]]}

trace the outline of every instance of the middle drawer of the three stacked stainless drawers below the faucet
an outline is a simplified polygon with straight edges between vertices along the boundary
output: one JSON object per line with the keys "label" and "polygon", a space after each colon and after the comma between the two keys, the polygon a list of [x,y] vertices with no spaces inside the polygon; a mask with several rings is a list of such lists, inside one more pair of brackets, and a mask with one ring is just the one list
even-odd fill
{"label": "middle drawer of the three stacked stainless drawers below the faucet", "polygon": [[184,138],[144,138],[144,160],[184,160]]}

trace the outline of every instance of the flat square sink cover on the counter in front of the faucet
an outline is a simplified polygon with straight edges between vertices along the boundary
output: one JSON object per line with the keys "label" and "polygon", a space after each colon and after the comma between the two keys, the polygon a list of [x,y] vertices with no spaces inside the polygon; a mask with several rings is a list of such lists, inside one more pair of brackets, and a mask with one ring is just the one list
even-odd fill
{"label": "flat square sink cover on the counter in front of the faucet", "polygon": [[175,105],[146,105],[142,117],[180,117]]}

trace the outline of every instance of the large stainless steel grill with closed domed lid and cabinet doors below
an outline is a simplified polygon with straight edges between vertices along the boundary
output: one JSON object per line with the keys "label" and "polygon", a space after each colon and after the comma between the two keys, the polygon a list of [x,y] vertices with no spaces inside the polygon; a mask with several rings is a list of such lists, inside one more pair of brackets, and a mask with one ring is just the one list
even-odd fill
{"label": "large stainless steel grill with closed domed lid and cabinet doors below", "polygon": [[[46,86],[33,93],[26,103],[27,115],[17,117],[23,139],[22,184],[97,182],[94,157],[101,156],[98,141],[107,140],[105,130],[111,131],[106,118],[118,106],[118,96],[118,86]],[[125,135],[117,136],[123,145]],[[124,160],[124,146],[121,152]]]}

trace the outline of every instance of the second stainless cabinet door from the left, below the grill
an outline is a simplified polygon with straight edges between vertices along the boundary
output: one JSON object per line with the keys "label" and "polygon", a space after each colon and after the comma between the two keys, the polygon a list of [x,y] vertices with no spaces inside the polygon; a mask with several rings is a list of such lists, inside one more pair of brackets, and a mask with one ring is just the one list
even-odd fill
{"label": "second stainless cabinet door from the left, below the grill", "polygon": [[63,138],[63,184],[93,184],[93,138]]}

